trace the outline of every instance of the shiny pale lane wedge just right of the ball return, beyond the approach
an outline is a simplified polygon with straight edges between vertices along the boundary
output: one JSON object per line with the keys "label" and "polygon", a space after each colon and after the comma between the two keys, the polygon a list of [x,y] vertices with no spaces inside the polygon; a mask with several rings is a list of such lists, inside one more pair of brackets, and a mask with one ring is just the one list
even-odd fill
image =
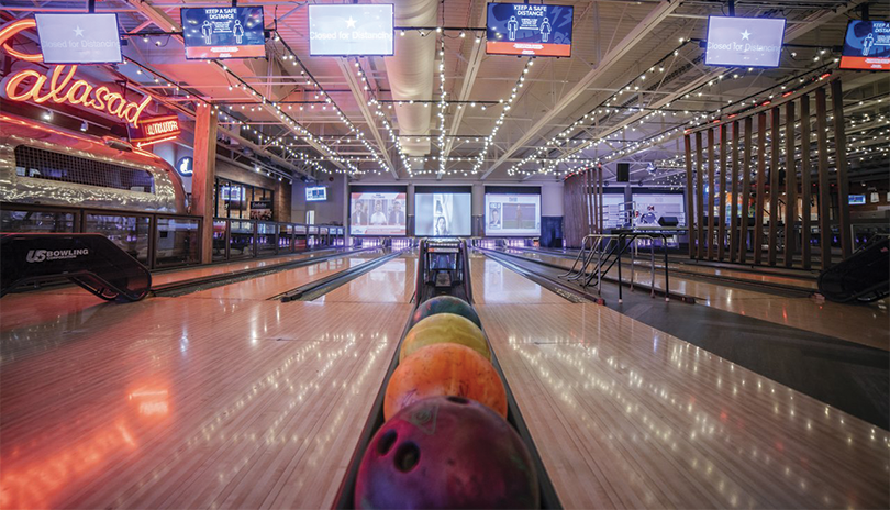
{"label": "shiny pale lane wedge just right of the ball return, beyond the approach", "polygon": [[566,300],[481,254],[470,256],[476,303],[565,303]]}

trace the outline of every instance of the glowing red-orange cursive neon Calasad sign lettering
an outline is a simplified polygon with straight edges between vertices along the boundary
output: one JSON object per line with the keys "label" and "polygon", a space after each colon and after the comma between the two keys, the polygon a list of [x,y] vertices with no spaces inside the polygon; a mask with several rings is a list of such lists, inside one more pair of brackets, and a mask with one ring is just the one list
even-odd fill
{"label": "glowing red-orange cursive neon Calasad sign lettering", "polygon": [[[19,32],[34,29],[37,25],[33,19],[19,20],[0,29],[0,46],[15,58],[26,62],[43,62],[43,54],[22,53],[12,48],[8,41]],[[75,80],[77,65],[56,66],[45,75],[35,69],[24,69],[14,73],[0,84],[0,92],[11,101],[34,101],[37,104],[47,101],[57,104],[82,104],[93,110],[109,113],[126,121],[134,127],[140,126],[140,115],[152,102],[146,96],[142,102],[127,101],[123,95],[112,92],[108,87],[93,87],[85,80]],[[32,81],[33,80],[33,81]],[[48,89],[44,92],[44,88]]]}

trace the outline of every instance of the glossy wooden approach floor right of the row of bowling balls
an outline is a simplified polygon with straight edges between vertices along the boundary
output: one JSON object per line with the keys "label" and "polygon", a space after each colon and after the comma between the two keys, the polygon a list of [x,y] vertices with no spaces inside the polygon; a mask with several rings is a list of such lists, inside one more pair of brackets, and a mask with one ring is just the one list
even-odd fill
{"label": "glossy wooden approach floor right of the row of bowling balls", "polygon": [[890,505],[885,430],[605,307],[477,310],[567,508]]}

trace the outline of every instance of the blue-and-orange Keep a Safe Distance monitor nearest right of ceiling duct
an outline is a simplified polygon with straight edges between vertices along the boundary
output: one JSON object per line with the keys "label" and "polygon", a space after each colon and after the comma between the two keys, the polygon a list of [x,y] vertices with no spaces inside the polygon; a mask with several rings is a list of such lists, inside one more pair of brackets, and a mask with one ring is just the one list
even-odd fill
{"label": "blue-and-orange Keep a Safe Distance monitor nearest right of ceiling duct", "polygon": [[486,53],[570,57],[574,12],[570,5],[489,3]]}

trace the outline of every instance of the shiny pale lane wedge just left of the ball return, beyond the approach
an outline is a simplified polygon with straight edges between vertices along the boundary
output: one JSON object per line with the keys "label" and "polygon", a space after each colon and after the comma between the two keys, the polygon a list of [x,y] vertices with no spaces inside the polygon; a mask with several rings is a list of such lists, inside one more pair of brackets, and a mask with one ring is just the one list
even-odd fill
{"label": "shiny pale lane wedge just left of the ball return, beyond the approach", "polygon": [[401,255],[312,302],[408,303],[414,296],[416,262],[416,255]]}

